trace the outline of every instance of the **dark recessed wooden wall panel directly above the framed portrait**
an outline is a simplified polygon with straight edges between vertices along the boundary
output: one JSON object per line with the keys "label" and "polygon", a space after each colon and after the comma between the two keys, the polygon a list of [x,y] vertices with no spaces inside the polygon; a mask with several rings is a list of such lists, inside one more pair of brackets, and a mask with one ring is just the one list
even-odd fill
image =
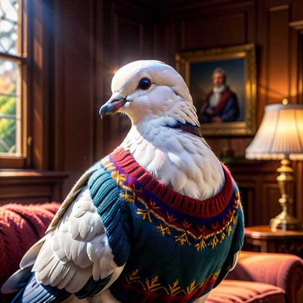
{"label": "dark recessed wooden wall panel directly above the framed portrait", "polygon": [[254,42],[255,3],[223,3],[191,11],[182,18],[182,50]]}

